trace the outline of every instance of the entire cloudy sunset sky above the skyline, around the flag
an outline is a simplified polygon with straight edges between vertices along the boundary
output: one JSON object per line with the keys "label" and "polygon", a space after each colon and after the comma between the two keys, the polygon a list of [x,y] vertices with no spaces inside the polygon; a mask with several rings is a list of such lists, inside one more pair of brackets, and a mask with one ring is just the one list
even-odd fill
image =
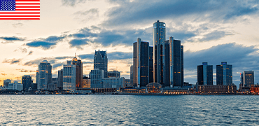
{"label": "entire cloudy sunset sky above the skyline, around the flag", "polygon": [[[259,83],[259,1],[183,0],[42,0],[41,20],[0,20],[0,85],[4,79],[33,78],[46,58],[53,77],[66,60],[83,61],[83,74],[93,69],[94,50],[107,50],[109,71],[130,78],[132,43],[152,42],[152,25],[166,23],[167,39],[184,45],[184,80],[197,81],[197,65],[222,61],[239,73],[255,71]],[[34,78],[35,80],[35,78]]]}

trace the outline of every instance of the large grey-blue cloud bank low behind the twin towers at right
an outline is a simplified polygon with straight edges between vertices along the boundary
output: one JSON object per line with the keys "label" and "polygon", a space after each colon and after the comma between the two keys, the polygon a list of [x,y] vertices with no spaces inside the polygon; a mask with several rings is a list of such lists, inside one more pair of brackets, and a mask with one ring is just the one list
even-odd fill
{"label": "large grey-blue cloud bank low behind the twin towers at right", "polygon": [[[214,65],[214,73],[216,73],[216,65],[226,61],[233,66],[233,82],[239,84],[239,73],[242,71],[253,70],[255,75],[259,74],[258,50],[253,45],[244,46],[237,43],[216,45],[197,52],[187,50],[184,52],[184,69],[190,75],[193,72],[196,73],[196,76],[193,76],[192,79],[197,80],[197,65],[201,65],[202,62],[208,62],[208,64]],[[259,80],[259,78],[255,76],[255,80]]]}

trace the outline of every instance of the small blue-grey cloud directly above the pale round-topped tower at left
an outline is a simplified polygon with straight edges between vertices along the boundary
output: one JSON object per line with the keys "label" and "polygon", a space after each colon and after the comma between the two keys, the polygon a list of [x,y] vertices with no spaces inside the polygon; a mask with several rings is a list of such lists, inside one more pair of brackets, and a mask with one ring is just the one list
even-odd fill
{"label": "small blue-grey cloud directly above the pale round-topped tower at left", "polygon": [[48,38],[39,38],[37,41],[31,41],[25,45],[34,48],[43,48],[43,50],[48,50],[54,45],[57,45],[59,41],[62,41],[66,36],[49,36]]}

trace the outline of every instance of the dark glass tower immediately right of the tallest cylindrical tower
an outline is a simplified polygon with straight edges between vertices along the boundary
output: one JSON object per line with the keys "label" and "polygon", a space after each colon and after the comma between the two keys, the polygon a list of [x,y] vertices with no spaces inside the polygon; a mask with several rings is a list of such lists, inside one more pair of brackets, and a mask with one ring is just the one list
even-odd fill
{"label": "dark glass tower immediately right of the tallest cylindrical tower", "polygon": [[171,36],[169,38],[170,44],[170,86],[182,87],[183,86],[183,45],[181,41],[174,40]]}

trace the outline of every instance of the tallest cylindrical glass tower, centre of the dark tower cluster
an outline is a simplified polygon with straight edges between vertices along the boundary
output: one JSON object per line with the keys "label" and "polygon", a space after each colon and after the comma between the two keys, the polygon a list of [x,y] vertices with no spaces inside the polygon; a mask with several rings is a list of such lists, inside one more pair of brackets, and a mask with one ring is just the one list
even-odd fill
{"label": "tallest cylindrical glass tower, centre of the dark tower cluster", "polygon": [[154,82],[164,83],[165,71],[165,22],[159,20],[153,24],[153,75]]}

